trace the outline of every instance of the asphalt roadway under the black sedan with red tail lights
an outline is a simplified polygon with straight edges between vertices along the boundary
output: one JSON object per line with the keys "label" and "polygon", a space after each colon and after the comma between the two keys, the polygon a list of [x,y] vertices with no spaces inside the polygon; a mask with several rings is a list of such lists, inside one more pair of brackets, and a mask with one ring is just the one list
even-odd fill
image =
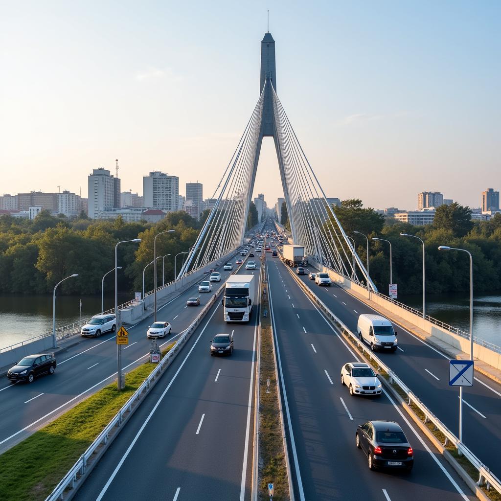
{"label": "asphalt roadway under the black sedan with red tail lights", "polygon": [[[474,499],[459,492],[468,491],[438,454],[429,451],[388,396],[351,397],[341,386],[341,367],[356,361],[357,355],[330,328],[285,265],[279,259],[267,261],[272,318],[296,446],[291,446],[289,434],[291,464],[296,455],[299,465],[297,498]],[[358,424],[371,419],[394,420],[402,426],[414,449],[411,473],[368,469],[367,457],[355,445],[355,431]]]}

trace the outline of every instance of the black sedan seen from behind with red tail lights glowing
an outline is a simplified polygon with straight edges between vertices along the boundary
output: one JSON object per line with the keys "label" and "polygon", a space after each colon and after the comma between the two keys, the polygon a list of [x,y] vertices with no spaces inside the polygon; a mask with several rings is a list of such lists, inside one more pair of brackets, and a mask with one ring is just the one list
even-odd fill
{"label": "black sedan seen from behind with red tail lights glowing", "polygon": [[359,424],[356,444],[367,455],[369,469],[405,468],[414,466],[414,452],[395,421],[368,421]]}

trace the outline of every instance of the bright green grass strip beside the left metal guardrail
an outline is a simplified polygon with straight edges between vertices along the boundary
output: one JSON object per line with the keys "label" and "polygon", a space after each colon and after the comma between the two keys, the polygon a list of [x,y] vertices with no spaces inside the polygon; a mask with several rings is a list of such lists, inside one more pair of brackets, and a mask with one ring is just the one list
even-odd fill
{"label": "bright green grass strip beside the left metal guardrail", "polygon": [[156,365],[140,365],[127,373],[123,391],[109,384],[0,455],[0,499],[43,501]]}

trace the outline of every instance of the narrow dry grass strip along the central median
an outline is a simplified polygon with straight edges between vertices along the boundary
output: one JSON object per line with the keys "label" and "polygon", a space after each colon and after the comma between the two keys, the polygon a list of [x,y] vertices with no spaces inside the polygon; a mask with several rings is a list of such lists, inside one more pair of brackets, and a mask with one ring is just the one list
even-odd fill
{"label": "narrow dry grass strip along the central median", "polygon": [[[270,306],[267,294],[261,295],[261,374],[260,387],[260,417],[259,417],[259,499],[268,501],[268,483],[274,484],[275,501],[286,501],[289,497],[289,482],[284,455],[284,441],[280,423],[279,396],[277,378],[275,377],[275,357],[273,349],[273,334],[270,321]],[[264,317],[264,311],[268,312]],[[270,393],[267,393],[267,380],[270,380]]]}

